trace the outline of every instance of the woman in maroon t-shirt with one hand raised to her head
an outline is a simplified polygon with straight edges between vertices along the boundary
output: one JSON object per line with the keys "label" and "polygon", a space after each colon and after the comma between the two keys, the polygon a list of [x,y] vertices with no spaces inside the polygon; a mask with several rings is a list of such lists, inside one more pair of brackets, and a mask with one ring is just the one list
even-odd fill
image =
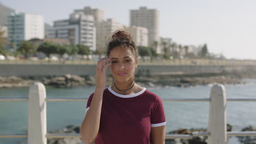
{"label": "woman in maroon t-shirt with one hand raised to her head", "polygon": [[[113,85],[106,87],[110,66]],[[95,144],[164,144],[165,113],[158,95],[134,81],[138,50],[131,35],[118,30],[108,43],[107,58],[96,66],[96,88],[88,99],[80,135]]]}

